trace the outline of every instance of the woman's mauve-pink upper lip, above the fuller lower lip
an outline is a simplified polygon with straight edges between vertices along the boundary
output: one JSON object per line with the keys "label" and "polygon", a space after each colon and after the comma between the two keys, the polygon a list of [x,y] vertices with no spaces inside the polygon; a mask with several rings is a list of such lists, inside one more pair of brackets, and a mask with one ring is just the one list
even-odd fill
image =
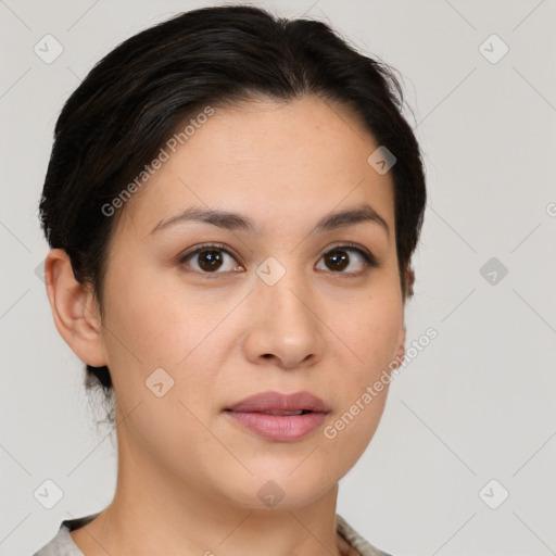
{"label": "woman's mauve-pink upper lip, above the fuller lower lip", "polygon": [[263,413],[268,415],[303,415],[306,413],[329,413],[330,407],[309,392],[280,394],[262,392],[245,397],[227,408],[238,413]]}

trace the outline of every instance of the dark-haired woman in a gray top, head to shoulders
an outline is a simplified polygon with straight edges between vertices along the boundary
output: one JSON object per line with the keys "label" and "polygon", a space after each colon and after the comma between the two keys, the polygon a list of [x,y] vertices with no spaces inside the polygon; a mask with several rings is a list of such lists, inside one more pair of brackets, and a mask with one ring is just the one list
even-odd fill
{"label": "dark-haired woman in a gray top, head to shoulders", "polygon": [[180,14],[89,73],[40,214],[117,485],[39,556],[386,554],[336,504],[404,356],[426,189],[402,105],[327,25],[252,7]]}

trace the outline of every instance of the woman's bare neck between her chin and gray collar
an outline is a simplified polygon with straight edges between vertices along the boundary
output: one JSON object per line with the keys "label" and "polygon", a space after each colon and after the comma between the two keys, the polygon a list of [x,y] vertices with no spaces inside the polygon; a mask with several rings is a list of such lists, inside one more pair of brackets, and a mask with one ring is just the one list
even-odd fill
{"label": "woman's bare neck between her chin and gray collar", "polygon": [[[308,504],[238,505],[202,483],[185,482],[118,442],[114,498],[72,533],[88,556],[184,554],[342,556],[336,531],[338,483]],[[340,547],[342,548],[340,551]]]}

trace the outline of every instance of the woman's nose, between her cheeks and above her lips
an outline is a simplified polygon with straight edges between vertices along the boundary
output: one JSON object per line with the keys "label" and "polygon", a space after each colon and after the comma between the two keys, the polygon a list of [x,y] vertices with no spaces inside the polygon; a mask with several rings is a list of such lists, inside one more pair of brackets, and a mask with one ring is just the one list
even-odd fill
{"label": "woman's nose, between her cheeks and above her lips", "polygon": [[326,329],[315,294],[290,273],[274,286],[257,279],[243,349],[249,361],[280,368],[308,367],[321,359]]}

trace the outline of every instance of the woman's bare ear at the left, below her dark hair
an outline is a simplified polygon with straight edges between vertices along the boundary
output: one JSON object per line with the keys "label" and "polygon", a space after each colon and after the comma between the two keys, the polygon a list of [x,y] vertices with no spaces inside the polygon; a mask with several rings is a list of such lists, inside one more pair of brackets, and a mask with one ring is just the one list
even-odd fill
{"label": "woman's bare ear at the left, below her dark hair", "polygon": [[84,363],[93,367],[106,365],[102,324],[92,288],[75,279],[64,250],[53,249],[47,255],[45,281],[60,336]]}

